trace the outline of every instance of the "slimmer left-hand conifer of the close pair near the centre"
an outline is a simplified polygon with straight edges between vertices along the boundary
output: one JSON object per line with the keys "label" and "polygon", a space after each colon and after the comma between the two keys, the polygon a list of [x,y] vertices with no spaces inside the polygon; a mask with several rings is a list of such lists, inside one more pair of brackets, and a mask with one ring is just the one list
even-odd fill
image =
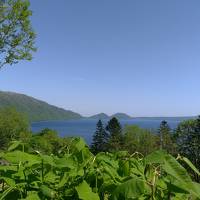
{"label": "slimmer left-hand conifer of the close pair near the centre", "polygon": [[93,135],[91,150],[97,154],[107,150],[108,134],[106,133],[101,120],[97,122],[96,131]]}

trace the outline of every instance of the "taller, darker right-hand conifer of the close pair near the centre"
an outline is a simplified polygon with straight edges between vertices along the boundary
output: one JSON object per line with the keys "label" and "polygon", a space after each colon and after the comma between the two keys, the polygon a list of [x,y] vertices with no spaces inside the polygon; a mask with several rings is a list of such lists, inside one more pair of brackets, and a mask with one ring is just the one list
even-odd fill
{"label": "taller, darker right-hand conifer of the close pair near the centre", "polygon": [[117,118],[113,117],[106,127],[106,130],[109,132],[109,151],[117,151],[122,149],[123,146],[123,134],[122,127]]}

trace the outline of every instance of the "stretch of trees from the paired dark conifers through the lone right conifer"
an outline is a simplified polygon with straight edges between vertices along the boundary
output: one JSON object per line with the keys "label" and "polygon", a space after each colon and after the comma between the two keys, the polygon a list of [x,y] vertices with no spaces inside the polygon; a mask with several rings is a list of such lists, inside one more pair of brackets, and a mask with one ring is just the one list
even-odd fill
{"label": "stretch of trees from the paired dark conifers through the lone right conifer", "polygon": [[162,121],[157,132],[126,125],[122,128],[117,118],[113,117],[104,126],[101,120],[96,125],[91,150],[97,154],[102,151],[115,152],[126,150],[129,153],[140,152],[144,156],[158,149],[176,153],[174,132],[166,121]]}

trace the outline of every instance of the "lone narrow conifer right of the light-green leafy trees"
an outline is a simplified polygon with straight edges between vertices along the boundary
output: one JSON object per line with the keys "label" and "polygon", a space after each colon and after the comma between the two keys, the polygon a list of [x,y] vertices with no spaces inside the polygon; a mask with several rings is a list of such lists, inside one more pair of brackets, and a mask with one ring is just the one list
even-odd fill
{"label": "lone narrow conifer right of the light-green leafy trees", "polygon": [[171,138],[171,129],[167,121],[162,121],[158,129],[160,136],[160,149],[165,149],[168,153],[173,153],[173,142]]}

